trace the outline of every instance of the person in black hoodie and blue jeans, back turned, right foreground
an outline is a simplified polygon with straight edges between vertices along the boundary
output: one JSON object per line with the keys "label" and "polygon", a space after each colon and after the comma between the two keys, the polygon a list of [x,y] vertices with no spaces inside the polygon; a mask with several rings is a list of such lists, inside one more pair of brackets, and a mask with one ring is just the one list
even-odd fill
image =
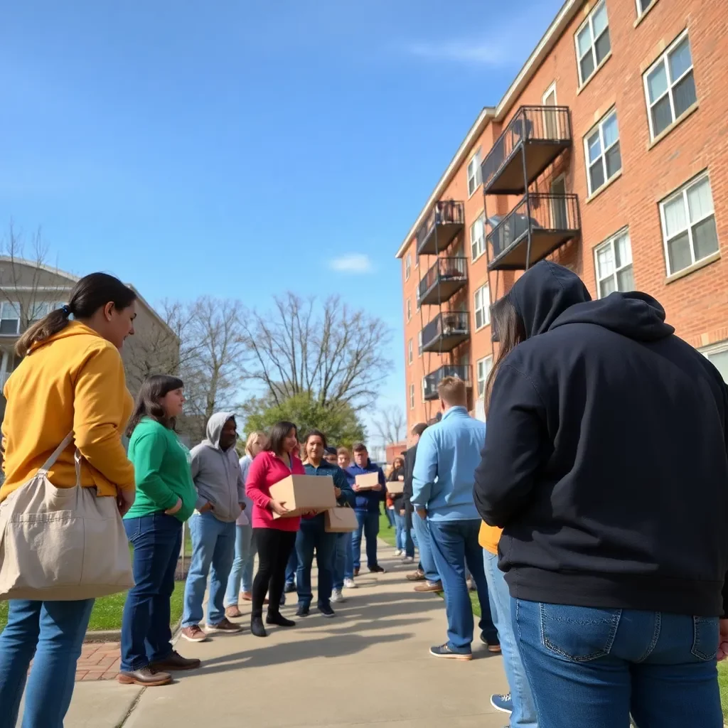
{"label": "person in black hoodie and blue jeans, back turned, right foreground", "polygon": [[[494,309],[475,503],[540,728],[721,728],[728,394],[645,293],[542,261]],[[555,699],[558,696],[558,699]]]}

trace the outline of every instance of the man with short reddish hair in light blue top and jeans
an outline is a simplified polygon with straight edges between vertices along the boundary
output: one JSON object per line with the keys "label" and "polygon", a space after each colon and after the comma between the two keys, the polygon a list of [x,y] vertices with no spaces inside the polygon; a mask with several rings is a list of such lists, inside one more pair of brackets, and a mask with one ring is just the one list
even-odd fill
{"label": "man with short reddish hair in light blue top and jeans", "polygon": [[486,424],[468,414],[462,379],[445,377],[438,395],[443,416],[422,433],[412,482],[412,504],[419,518],[427,518],[430,524],[432,555],[443,582],[448,617],[448,641],[430,648],[430,654],[471,660],[474,625],[466,565],[478,590],[480,640],[488,646],[499,644],[478,544],[480,516],[472,495]]}

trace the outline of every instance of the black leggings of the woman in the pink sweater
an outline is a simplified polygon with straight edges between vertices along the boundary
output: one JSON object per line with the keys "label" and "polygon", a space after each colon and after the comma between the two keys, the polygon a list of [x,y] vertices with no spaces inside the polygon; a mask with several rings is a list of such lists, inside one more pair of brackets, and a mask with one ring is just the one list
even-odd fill
{"label": "black leggings of the woman in the pink sweater", "polygon": [[253,539],[258,550],[258,573],[253,579],[253,611],[250,616],[262,616],[266,592],[268,613],[277,614],[285,586],[285,567],[296,545],[296,531],[253,529]]}

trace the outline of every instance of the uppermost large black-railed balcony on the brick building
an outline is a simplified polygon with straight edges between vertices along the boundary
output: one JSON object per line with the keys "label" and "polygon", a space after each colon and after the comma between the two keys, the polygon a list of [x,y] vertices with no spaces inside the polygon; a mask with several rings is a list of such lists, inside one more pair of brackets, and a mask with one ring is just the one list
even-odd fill
{"label": "uppermost large black-railed balcony on the brick building", "polygon": [[[529,184],[571,146],[568,106],[521,106],[483,159],[486,194],[523,194]],[[523,178],[523,149],[526,178]]]}

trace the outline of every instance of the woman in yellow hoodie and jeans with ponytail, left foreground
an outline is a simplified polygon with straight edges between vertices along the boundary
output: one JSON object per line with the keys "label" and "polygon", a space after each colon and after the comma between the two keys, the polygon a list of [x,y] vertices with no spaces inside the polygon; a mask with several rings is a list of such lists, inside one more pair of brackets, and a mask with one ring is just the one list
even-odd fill
{"label": "woman in yellow hoodie and jeans with ponytail, left foreground", "polygon": [[[134,333],[136,298],[113,276],[92,273],[76,283],[66,306],[33,324],[18,340],[15,351],[24,358],[4,390],[0,507],[71,431],[74,444],[50,469],[51,483],[75,486],[78,448],[82,486],[116,498],[122,515],[131,507],[134,469],[121,436],[132,398],[119,352]],[[33,656],[23,728],[63,726],[92,606],[93,599],[10,601],[7,627],[0,635],[0,728],[15,727]]]}

